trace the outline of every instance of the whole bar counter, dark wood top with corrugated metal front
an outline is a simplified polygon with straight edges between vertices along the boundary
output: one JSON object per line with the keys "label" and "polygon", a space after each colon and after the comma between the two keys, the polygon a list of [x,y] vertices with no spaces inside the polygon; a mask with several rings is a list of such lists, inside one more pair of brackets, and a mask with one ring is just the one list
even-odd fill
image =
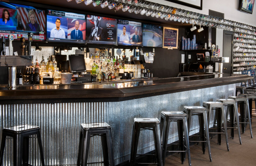
{"label": "whole bar counter, dark wood top with corrugated metal front", "polygon": [[[7,126],[40,126],[45,165],[74,165],[78,155],[80,124],[106,122],[111,126],[117,165],[129,160],[135,117],[160,119],[161,111],[182,111],[184,106],[202,106],[204,101],[228,98],[235,95],[236,83],[247,79],[252,77],[206,74],[126,82],[32,85],[13,90],[1,86],[0,135],[2,128]],[[193,116],[190,135],[197,132],[198,117]],[[100,138],[92,137],[91,140],[88,162],[102,161]],[[177,140],[176,123],[171,123],[168,143]],[[38,145],[35,142],[30,143],[32,152],[29,162],[40,165]],[[35,148],[32,150],[33,146]],[[154,149],[153,133],[141,131],[138,154]],[[3,165],[12,165],[11,139],[6,140]]]}

